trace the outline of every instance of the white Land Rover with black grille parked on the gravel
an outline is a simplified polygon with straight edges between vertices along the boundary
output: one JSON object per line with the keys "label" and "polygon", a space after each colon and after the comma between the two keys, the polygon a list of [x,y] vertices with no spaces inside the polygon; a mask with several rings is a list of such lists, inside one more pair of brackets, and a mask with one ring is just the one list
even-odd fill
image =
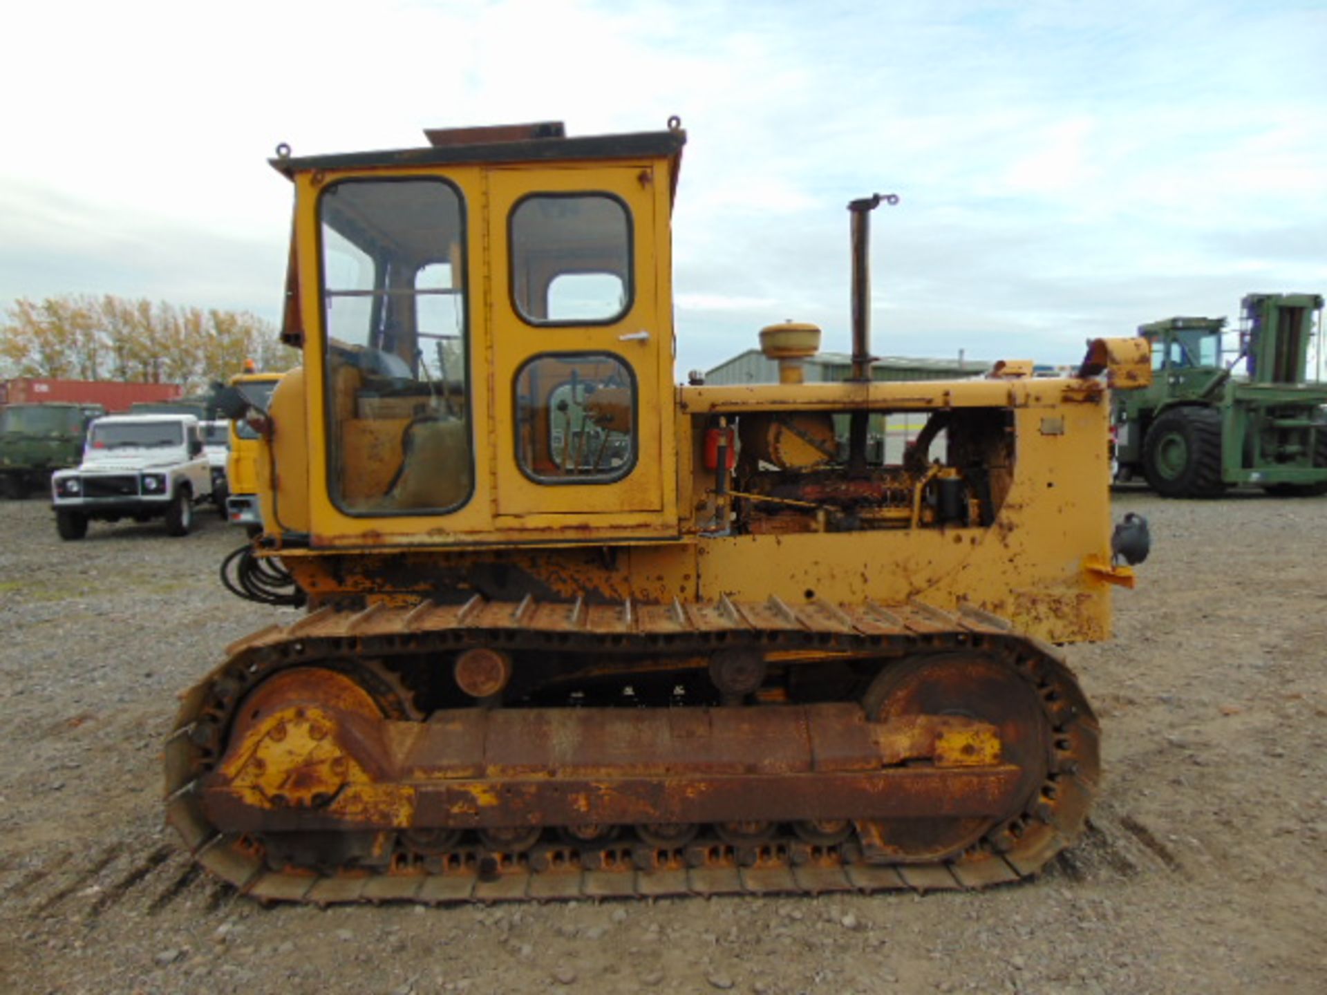
{"label": "white Land Rover with black grille parked on the gravel", "polygon": [[88,430],[82,464],[50,480],[61,539],[82,539],[88,521],[150,521],[187,535],[194,505],[211,500],[212,471],[194,415],[111,415]]}

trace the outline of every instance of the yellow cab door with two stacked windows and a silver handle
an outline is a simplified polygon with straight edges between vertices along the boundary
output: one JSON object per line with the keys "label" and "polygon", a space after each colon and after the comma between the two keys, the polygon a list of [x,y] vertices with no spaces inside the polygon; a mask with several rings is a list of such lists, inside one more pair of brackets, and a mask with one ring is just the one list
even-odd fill
{"label": "yellow cab door with two stacked windows and a silver handle", "polygon": [[487,203],[498,524],[662,525],[675,475],[656,167],[494,168]]}

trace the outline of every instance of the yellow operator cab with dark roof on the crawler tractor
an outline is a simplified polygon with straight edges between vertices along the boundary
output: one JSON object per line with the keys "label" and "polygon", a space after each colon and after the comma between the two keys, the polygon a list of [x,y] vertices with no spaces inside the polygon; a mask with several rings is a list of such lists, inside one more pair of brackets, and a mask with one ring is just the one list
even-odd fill
{"label": "yellow operator cab with dark roof on the crawler tractor", "polygon": [[296,183],[283,336],[309,374],[299,531],[675,535],[662,467],[683,133],[427,135],[430,149],[273,161]]}

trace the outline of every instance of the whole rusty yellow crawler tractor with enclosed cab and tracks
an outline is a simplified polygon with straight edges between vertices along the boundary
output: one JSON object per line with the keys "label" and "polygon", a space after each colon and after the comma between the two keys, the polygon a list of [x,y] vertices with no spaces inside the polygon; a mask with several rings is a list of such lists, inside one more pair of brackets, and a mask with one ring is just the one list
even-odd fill
{"label": "whole rusty yellow crawler tractor with enclosed cab and tracks", "polygon": [[[183,695],[167,817],[261,899],[981,888],[1083,829],[1097,722],[1051,643],[1103,639],[1109,385],[1030,362],[677,386],[685,133],[429,131],[293,158],[253,561],[308,612]],[[892,198],[884,198],[889,200]],[[1141,352],[1140,352],[1141,350]],[[925,418],[906,450],[892,418]]]}

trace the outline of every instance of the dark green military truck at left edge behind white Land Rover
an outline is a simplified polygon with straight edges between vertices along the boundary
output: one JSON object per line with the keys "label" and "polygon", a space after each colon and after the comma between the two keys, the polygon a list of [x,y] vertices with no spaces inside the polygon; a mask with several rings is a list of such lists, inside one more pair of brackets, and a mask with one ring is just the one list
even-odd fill
{"label": "dark green military truck at left edge behind white Land Rover", "polygon": [[50,475],[82,459],[88,423],[101,405],[42,403],[0,407],[0,494],[49,492]]}

